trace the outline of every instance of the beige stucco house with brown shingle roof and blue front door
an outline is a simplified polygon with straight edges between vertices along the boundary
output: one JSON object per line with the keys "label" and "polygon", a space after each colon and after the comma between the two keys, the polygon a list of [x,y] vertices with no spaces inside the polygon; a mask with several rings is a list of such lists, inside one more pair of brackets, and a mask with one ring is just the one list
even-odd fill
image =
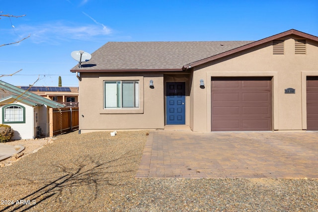
{"label": "beige stucco house with brown shingle roof and blue front door", "polygon": [[75,66],[82,133],[318,130],[318,37],[108,42]]}

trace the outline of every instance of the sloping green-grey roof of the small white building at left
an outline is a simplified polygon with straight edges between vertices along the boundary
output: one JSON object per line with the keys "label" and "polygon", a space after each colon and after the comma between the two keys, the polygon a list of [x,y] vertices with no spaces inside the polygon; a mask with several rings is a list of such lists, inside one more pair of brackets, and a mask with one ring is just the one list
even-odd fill
{"label": "sloping green-grey roof of the small white building at left", "polygon": [[[20,99],[25,99],[25,100],[28,100],[30,102],[37,103],[37,104],[44,104],[44,105],[47,105],[47,106],[52,107],[52,108],[64,107],[64,105],[62,105],[60,103],[57,103],[57,102],[52,101],[50,99],[36,95],[36,94],[31,93],[29,91],[25,91],[21,88],[18,88],[14,85],[11,85],[11,84],[6,83],[6,82],[1,81],[1,80],[0,80],[0,88],[8,91],[8,95],[6,95],[6,96],[9,96],[9,95],[17,96]],[[17,100],[19,101],[19,99],[17,99]]]}

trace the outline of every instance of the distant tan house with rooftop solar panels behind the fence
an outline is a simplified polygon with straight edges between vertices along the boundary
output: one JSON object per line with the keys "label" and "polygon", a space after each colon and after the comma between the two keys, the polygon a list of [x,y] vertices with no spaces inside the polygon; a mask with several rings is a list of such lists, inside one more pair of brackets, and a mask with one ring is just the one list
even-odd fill
{"label": "distant tan house with rooftop solar panels behind the fence", "polygon": [[79,107],[79,87],[17,86],[39,96],[64,104],[66,107]]}

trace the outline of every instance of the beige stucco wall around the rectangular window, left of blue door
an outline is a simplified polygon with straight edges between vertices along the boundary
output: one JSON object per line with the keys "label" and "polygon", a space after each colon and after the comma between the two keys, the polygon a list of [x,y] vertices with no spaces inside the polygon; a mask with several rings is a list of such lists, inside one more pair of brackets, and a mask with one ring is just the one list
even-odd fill
{"label": "beige stucco wall around the rectangular window, left of blue door", "polygon": [[[81,73],[79,81],[79,129],[81,133],[121,129],[164,128],[162,73]],[[149,87],[154,81],[154,89]],[[104,109],[105,80],[139,80],[139,109]]]}

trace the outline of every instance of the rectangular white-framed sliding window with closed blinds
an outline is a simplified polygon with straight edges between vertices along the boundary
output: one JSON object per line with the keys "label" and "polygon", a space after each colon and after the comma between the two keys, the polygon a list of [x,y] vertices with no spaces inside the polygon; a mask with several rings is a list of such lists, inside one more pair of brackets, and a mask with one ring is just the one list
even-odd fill
{"label": "rectangular white-framed sliding window with closed blinds", "polygon": [[104,81],[104,108],[139,108],[139,81]]}

